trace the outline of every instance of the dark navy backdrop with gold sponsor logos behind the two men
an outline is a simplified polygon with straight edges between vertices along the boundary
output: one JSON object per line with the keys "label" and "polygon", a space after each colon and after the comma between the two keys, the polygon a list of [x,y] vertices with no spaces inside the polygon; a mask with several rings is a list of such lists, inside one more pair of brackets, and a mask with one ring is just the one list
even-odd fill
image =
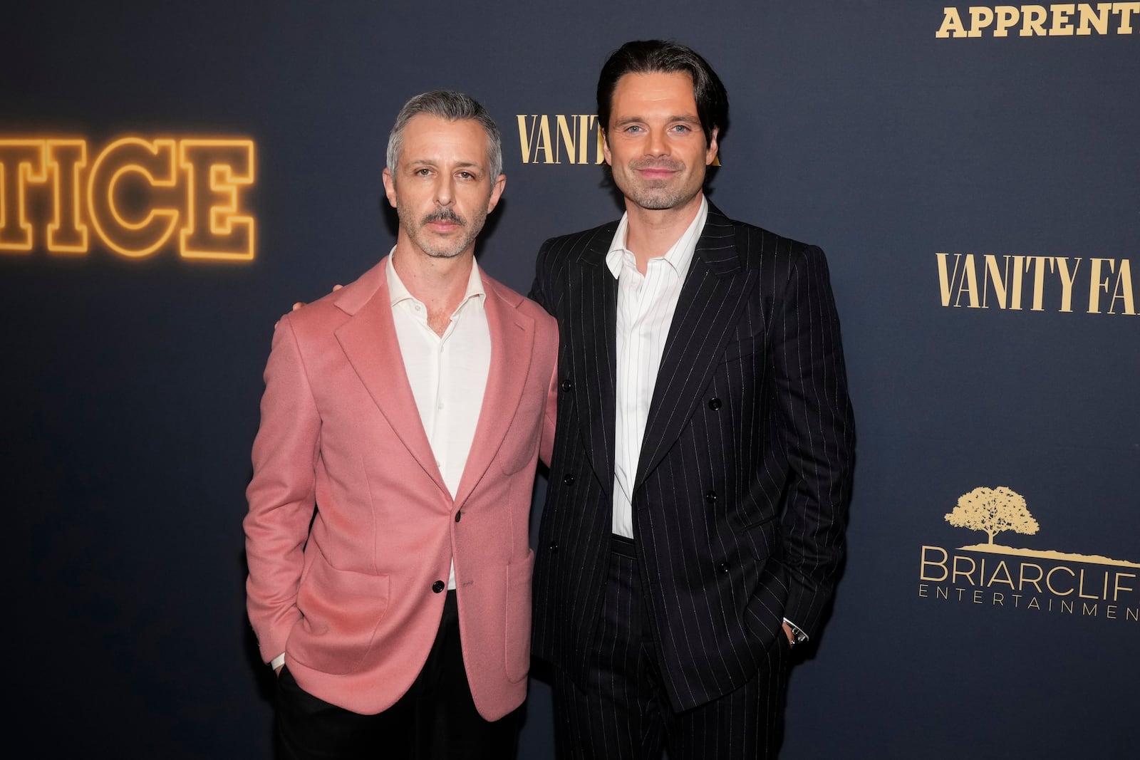
{"label": "dark navy backdrop with gold sponsor logos behind the two men", "polygon": [[[823,247],[842,320],[849,551],[782,757],[1137,757],[1140,2],[918,0],[6,9],[0,482],[32,754],[269,755],[241,522],[274,322],[389,251],[388,131],[435,88],[503,131],[478,255],[526,292],[545,238],[620,213],[594,87],[649,38],[728,89],[712,202]],[[532,678],[520,757],[552,745]]]}

